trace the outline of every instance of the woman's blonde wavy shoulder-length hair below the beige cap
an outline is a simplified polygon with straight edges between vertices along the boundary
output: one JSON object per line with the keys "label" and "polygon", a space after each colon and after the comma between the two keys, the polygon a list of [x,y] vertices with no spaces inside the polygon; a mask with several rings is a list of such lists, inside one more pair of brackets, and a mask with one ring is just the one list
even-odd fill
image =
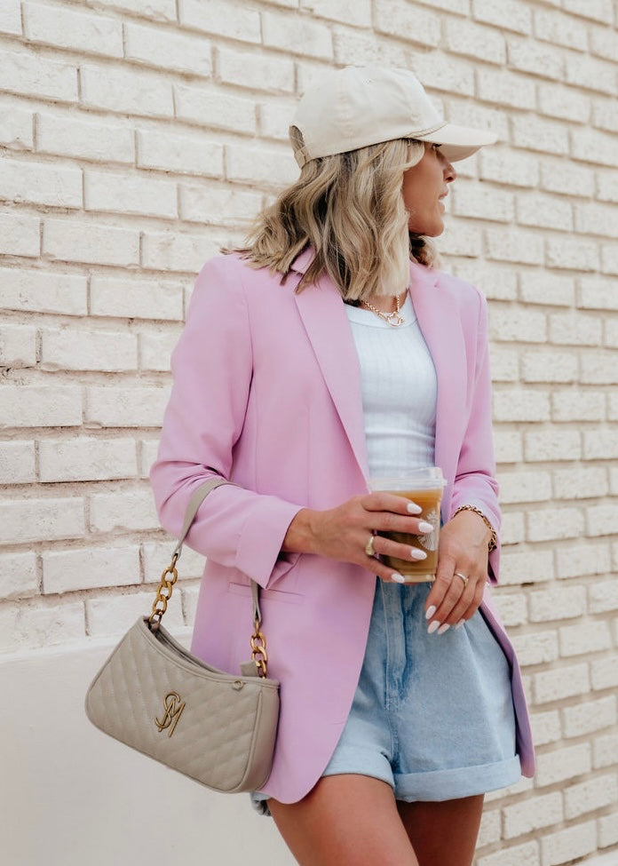
{"label": "woman's blonde wavy shoulder-length hair below the beige cap", "polygon": [[[303,147],[297,127],[289,137]],[[311,244],[315,257],[297,291],[326,272],[346,301],[394,295],[409,282],[409,259],[437,263],[423,235],[408,230],[403,172],[420,162],[424,143],[394,139],[305,163],[295,183],[258,214],[237,252],[250,266],[268,266],[285,282],[298,253]]]}

